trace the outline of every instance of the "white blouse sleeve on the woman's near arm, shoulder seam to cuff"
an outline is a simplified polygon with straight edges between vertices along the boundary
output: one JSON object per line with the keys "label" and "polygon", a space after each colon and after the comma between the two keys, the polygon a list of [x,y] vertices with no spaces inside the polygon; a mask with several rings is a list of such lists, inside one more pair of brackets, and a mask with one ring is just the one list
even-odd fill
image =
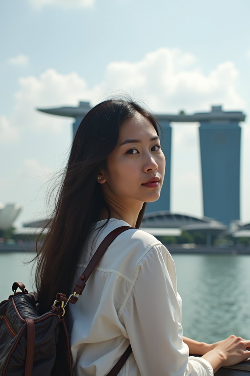
{"label": "white blouse sleeve on the woman's near arm, shoulder seam to cuff", "polygon": [[143,376],[213,376],[203,358],[188,357],[183,342],[175,265],[168,250],[154,246],[138,264],[138,276],[121,314]]}

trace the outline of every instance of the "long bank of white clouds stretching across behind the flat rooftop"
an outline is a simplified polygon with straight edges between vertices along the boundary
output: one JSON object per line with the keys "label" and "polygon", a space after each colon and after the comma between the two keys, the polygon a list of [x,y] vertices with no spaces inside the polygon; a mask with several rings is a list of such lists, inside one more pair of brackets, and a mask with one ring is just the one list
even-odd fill
{"label": "long bank of white clouds stretching across behind the flat rooftop", "polygon": [[104,93],[120,90],[145,99],[156,112],[208,111],[211,104],[222,104],[224,109],[241,109],[245,103],[237,92],[237,77],[238,71],[230,61],[204,74],[195,56],[167,48],[148,53],[138,62],[109,63],[102,82],[92,88],[75,72],[61,74],[50,68],[39,77],[19,79],[9,124],[31,132],[46,129],[60,133],[65,120],[35,109],[77,106],[79,100],[95,104],[103,99]]}

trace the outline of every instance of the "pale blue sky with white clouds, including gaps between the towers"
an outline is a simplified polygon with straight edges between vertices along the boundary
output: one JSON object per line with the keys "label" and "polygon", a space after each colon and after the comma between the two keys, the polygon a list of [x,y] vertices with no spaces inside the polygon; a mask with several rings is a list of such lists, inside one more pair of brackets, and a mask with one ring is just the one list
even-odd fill
{"label": "pale blue sky with white clouds, including gaps between the towers", "polygon": [[[243,111],[241,221],[250,221],[249,0],[0,2],[0,203],[14,225],[46,217],[72,142],[71,118],[124,92],[154,113]],[[171,211],[202,217],[198,123],[171,123]]]}

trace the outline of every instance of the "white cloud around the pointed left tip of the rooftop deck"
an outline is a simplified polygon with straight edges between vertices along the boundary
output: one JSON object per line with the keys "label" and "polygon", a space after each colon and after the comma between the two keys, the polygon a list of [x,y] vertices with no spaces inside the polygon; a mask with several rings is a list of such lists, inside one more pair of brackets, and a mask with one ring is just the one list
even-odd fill
{"label": "white cloud around the pointed left tip of the rooftop deck", "polygon": [[84,98],[87,87],[85,80],[76,73],[63,75],[54,69],[47,69],[39,77],[22,77],[18,83],[12,121],[20,129],[30,132],[46,130],[52,134],[60,133],[71,119],[48,116],[36,108],[76,106],[79,99]]}

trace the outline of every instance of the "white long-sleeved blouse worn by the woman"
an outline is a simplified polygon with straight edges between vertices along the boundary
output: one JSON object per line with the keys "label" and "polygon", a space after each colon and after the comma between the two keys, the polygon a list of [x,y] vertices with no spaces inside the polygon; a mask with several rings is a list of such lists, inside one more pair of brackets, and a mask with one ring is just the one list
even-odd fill
{"label": "white long-sleeved blouse worn by the woman", "polygon": [[[99,233],[93,233],[77,277],[105,236],[124,225],[129,226],[112,218]],[[213,375],[209,362],[188,356],[174,260],[147,232],[129,229],[121,233],[97,264],[81,299],[69,308],[76,376],[104,376],[129,343],[133,353],[119,376]]]}

